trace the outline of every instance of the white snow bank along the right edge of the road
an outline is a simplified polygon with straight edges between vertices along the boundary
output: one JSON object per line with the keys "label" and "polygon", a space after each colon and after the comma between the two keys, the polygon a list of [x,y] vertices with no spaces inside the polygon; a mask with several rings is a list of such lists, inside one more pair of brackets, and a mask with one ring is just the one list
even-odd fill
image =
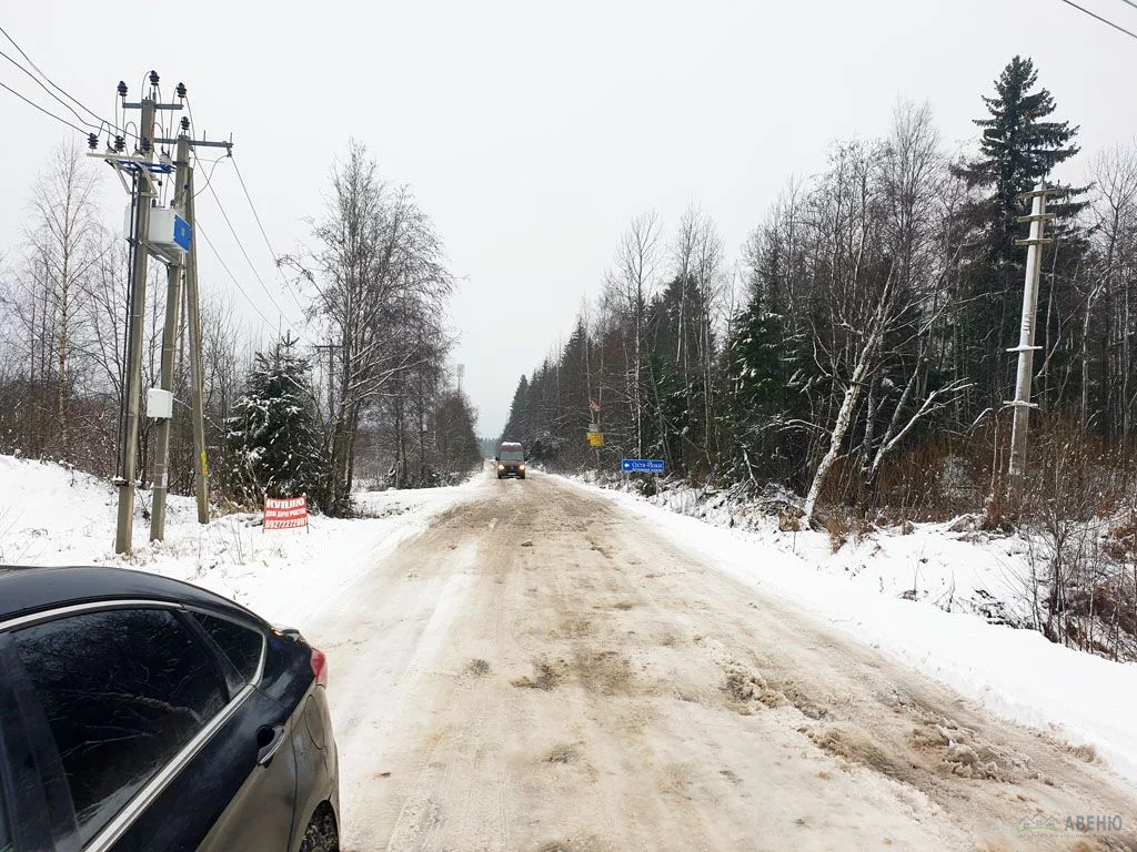
{"label": "white snow bank along the right edge of the road", "polygon": [[[1114,770],[1137,780],[1137,665],[989,624],[986,613],[968,607],[948,612],[937,605],[952,587],[1016,583],[1024,567],[1021,542],[968,542],[951,537],[945,525],[923,525],[912,535],[874,534],[833,554],[821,533],[720,528],[632,494],[576,487],[605,494],[677,546],[994,712],[1094,746]],[[923,593],[905,596],[913,585]]]}

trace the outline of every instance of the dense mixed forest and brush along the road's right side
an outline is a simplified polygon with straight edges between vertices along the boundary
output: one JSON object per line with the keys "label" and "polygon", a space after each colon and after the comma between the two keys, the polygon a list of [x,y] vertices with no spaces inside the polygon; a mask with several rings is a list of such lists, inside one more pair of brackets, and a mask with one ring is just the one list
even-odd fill
{"label": "dense mixed forest and brush along the road's right side", "polygon": [[[663,459],[682,486],[763,503],[836,546],[972,516],[980,533],[1030,543],[1034,626],[1132,655],[1137,149],[1082,153],[1026,58],[977,107],[962,150],[928,105],[898,106],[885,139],[836,143],[816,174],[789,179],[737,260],[697,207],[670,233],[653,214],[633,219],[600,298],[521,377],[504,435],[557,470]],[[1020,195],[1060,178],[1028,482],[1011,506]],[[586,441],[592,402],[600,449]]]}

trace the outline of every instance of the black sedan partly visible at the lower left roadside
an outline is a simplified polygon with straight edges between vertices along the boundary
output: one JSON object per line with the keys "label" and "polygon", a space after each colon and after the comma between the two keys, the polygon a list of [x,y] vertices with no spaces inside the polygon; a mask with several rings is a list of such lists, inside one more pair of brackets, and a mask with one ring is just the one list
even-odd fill
{"label": "black sedan partly visible at the lower left roadside", "polygon": [[185,583],[0,567],[0,852],[337,852],[326,674]]}

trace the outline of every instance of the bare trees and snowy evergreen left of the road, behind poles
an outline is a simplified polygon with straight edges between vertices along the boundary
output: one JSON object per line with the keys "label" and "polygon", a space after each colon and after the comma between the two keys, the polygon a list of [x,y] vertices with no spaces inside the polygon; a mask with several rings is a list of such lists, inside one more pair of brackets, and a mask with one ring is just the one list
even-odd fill
{"label": "bare trees and snowy evergreen left of the road, behind poles", "polygon": [[[102,224],[99,169],[77,145],[61,145],[31,186],[23,241],[0,251],[0,452],[109,479],[128,247]],[[481,460],[475,412],[448,361],[454,333],[443,318],[454,278],[441,237],[410,191],[384,179],[357,142],[333,165],[330,184],[306,244],[274,258],[280,294],[302,311],[302,328],[252,328],[216,287],[204,287],[208,463],[214,494],[226,502],[254,507],[266,495],[307,493],[315,508],[347,515],[360,478],[371,487],[445,485]],[[144,387],[157,384],[161,356],[157,266]],[[257,278],[238,275],[235,292],[259,311],[249,296]],[[179,340],[184,353],[184,327]],[[185,358],[177,364],[183,414],[189,369]],[[156,432],[143,419],[143,486]],[[188,418],[175,416],[172,433],[171,492],[188,494],[197,470]]]}

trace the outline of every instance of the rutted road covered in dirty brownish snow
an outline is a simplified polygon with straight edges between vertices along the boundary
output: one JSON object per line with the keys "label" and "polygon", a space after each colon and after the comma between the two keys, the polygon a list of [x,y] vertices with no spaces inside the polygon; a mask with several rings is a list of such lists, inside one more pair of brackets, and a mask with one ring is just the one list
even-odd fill
{"label": "rutted road covered in dirty brownish snow", "polygon": [[[546,476],[470,495],[306,625],[346,850],[1137,849],[1137,801],[1086,754],[603,495]],[[1123,834],[1028,840],[1037,815]]]}

